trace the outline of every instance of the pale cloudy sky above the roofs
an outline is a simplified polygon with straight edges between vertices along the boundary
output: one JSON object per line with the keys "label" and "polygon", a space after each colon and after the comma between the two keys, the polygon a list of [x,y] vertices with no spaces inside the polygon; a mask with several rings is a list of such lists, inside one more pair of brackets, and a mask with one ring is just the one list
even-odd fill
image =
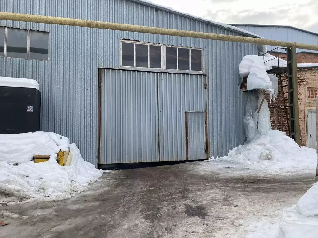
{"label": "pale cloudy sky above the roofs", "polygon": [[152,0],[152,2],[222,23],[290,25],[318,33],[318,0]]}

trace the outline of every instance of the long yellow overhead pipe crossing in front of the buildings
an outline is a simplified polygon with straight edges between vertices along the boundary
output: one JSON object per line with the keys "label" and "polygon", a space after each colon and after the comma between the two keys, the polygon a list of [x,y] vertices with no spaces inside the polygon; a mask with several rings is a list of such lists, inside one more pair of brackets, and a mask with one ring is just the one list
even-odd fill
{"label": "long yellow overhead pipe crossing in front of the buildings", "polygon": [[245,36],[220,35],[220,34],[214,34],[214,33],[204,33],[204,32],[188,31],[188,30],[174,30],[174,29],[166,29],[166,28],[158,28],[158,27],[150,27],[150,26],[137,26],[137,25],[129,25],[129,24],[121,24],[121,23],[89,21],[89,20],[73,19],[73,18],[65,18],[65,17],[47,17],[47,16],[38,16],[38,15],[31,15],[31,14],[0,12],[0,20],[47,23],[47,24],[67,25],[67,26],[81,26],[81,27],[99,28],[99,29],[107,29],[107,30],[132,31],[132,32],[149,33],[149,34],[157,34],[157,35],[167,35],[167,36],[182,36],[182,37],[209,39],[209,40],[232,41],[232,42],[259,44],[259,45],[272,45],[272,46],[279,46],[279,47],[295,46],[296,48],[299,48],[299,49],[318,50],[318,45],[310,45],[310,44],[303,44],[303,43],[276,41],[276,40],[252,38],[252,37],[245,37]]}

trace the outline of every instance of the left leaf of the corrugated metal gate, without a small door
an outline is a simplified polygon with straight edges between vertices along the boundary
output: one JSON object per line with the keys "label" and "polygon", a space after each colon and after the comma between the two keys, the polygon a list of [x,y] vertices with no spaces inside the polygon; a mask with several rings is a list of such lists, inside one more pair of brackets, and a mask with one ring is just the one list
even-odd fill
{"label": "left leaf of the corrugated metal gate, without a small door", "polygon": [[103,70],[100,163],[159,160],[156,81],[151,72]]}

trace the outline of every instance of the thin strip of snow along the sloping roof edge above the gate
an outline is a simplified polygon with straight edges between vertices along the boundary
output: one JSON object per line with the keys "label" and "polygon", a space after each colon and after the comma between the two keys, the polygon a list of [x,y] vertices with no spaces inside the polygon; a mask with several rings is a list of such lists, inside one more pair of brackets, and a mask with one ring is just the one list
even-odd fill
{"label": "thin strip of snow along the sloping roof edge above the gate", "polygon": [[219,28],[222,28],[222,29],[225,29],[225,30],[229,30],[229,31],[232,31],[232,32],[236,32],[236,33],[239,33],[239,34],[242,34],[242,35],[245,35],[245,36],[263,38],[262,36],[256,35],[256,34],[254,34],[252,32],[247,31],[247,30],[240,29],[240,28],[238,28],[236,26],[232,26],[232,25],[228,25],[228,24],[224,24],[224,23],[220,23],[220,22],[215,22],[215,21],[212,21],[210,19],[205,19],[205,18],[202,18],[202,17],[196,17],[196,16],[193,16],[193,15],[191,15],[189,13],[184,13],[184,12],[177,11],[177,10],[171,8],[171,7],[165,7],[165,6],[153,3],[153,2],[151,2],[149,0],[129,0],[129,1],[130,2],[134,2],[134,3],[139,3],[139,4],[142,4],[142,5],[146,5],[146,6],[149,6],[149,7],[153,7],[153,8],[158,8],[158,9],[163,10],[163,11],[169,11],[171,13],[175,13],[175,14],[178,14],[180,16],[191,18],[191,19],[194,19],[194,20],[197,20],[197,21],[200,21],[200,22],[210,23],[211,25],[214,25],[216,27],[219,27]]}

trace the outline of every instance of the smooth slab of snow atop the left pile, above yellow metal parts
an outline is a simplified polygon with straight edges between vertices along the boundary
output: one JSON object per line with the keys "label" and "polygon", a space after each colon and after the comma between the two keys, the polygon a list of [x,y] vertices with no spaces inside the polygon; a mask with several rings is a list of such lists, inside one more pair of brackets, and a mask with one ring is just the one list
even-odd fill
{"label": "smooth slab of snow atop the left pile, above yellow metal parts", "polygon": [[29,162],[35,155],[52,155],[68,150],[69,139],[53,132],[0,135],[0,161],[10,164]]}

